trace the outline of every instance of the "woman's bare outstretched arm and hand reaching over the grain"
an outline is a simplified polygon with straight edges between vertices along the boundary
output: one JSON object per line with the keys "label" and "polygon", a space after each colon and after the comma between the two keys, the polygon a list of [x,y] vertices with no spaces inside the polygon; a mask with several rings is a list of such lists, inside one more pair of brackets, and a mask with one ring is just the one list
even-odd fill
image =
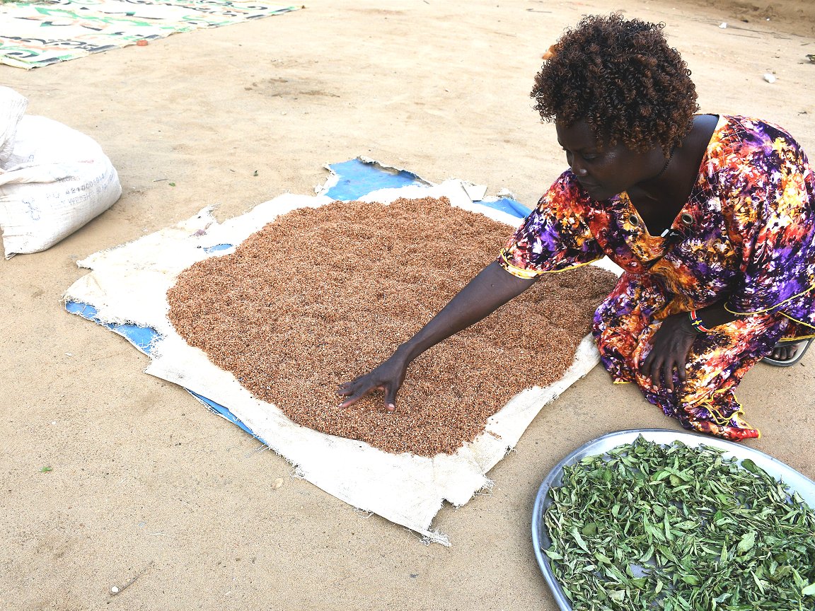
{"label": "woman's bare outstretched arm and hand reaching over the grain", "polygon": [[340,385],[337,393],[346,398],[341,407],[347,407],[378,389],[385,393],[385,408],[394,410],[396,393],[414,358],[439,341],[486,318],[532,284],[535,284],[535,279],[518,278],[504,270],[498,262],[490,263],[415,336],[399,345],[390,358],[365,375]]}

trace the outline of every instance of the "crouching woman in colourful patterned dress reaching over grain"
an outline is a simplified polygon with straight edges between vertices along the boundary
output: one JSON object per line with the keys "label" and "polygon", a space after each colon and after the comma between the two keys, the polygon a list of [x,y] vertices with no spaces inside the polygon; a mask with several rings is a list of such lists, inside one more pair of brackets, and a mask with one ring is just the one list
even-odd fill
{"label": "crouching woman in colourful patterned dress reaching over grain", "polygon": [[662,24],[593,16],[552,47],[532,97],[571,166],[496,262],[384,363],[340,386],[393,410],[416,356],[478,322],[541,274],[609,256],[623,268],[593,336],[686,429],[760,432],[734,389],[761,358],[794,363],[815,332],[815,178],[784,130],[695,115],[689,70]]}

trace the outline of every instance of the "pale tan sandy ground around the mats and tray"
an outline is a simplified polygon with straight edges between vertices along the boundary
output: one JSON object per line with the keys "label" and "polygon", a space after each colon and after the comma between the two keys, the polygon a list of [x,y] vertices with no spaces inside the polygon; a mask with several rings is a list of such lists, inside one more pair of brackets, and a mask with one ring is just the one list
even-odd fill
{"label": "pale tan sandy ground around the mats and tray", "polygon": [[[311,193],[324,164],[358,155],[534,204],[565,160],[528,91],[542,51],[584,13],[665,21],[703,111],[769,118],[815,152],[809,0],[711,5],[315,0],[31,72],[0,67],[29,113],[96,138],[124,187],[61,244],[0,261],[0,608],[556,609],[531,547],[536,490],[593,437],[678,428],[636,389],[596,368],[491,471],[490,495],[438,514],[452,547],[425,546],[291,477],[59,300],[85,273],[77,258],[206,204],[225,219]],[[739,396],[764,431],[750,445],[815,478],[813,389],[815,351],[795,367],[756,367]]]}

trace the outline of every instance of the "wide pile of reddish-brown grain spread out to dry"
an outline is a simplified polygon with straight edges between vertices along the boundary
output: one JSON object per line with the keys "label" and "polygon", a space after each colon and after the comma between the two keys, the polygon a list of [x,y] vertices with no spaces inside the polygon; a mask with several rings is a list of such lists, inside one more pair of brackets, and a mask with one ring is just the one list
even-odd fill
{"label": "wide pile of reddish-brown grain spread out to dry", "polygon": [[446,199],[298,209],[168,292],[190,344],[291,420],[381,450],[452,453],[516,393],[559,379],[614,283],[591,266],[544,275],[412,363],[393,413],[381,393],[340,409],[369,371],[495,259],[511,229]]}

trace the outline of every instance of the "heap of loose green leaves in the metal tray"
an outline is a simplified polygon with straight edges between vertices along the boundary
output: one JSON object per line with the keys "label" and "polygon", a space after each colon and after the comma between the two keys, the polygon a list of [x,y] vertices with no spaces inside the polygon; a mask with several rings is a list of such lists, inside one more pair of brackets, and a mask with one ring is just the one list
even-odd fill
{"label": "heap of loose green leaves in the metal tray", "polygon": [[564,469],[544,552],[575,611],[815,609],[815,514],[722,453],[639,437]]}

